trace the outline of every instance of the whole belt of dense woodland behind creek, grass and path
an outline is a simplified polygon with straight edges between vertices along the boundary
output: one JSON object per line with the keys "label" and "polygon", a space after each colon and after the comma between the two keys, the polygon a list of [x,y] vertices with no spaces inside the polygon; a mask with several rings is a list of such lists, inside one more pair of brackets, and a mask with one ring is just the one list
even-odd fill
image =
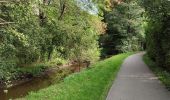
{"label": "whole belt of dense woodland behind creek, grass and path", "polygon": [[0,80],[142,50],[170,70],[169,38],[168,0],[0,1]]}

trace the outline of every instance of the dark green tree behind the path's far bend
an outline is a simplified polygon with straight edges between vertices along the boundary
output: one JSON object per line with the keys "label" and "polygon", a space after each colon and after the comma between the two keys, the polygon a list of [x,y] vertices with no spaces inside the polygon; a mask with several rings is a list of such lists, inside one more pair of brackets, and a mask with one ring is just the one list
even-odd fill
{"label": "dark green tree behind the path's far bend", "polygon": [[[126,0],[106,12],[107,34],[102,36],[103,46],[115,52],[143,50],[144,9],[136,0]],[[103,39],[105,37],[105,39]]]}

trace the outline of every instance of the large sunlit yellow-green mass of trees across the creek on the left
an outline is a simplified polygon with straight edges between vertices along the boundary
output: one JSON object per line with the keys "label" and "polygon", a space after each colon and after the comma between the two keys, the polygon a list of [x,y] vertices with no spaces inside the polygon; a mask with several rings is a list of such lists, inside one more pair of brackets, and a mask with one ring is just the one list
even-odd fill
{"label": "large sunlit yellow-green mass of trees across the creek on the left", "polygon": [[[76,1],[21,0],[0,4],[0,8],[0,18],[13,22],[0,29],[0,59],[6,63],[2,66],[6,68],[4,73],[11,72],[9,61],[17,70],[17,66],[36,63],[61,65],[70,60],[99,59],[99,31],[92,23],[101,19],[83,11]],[[21,72],[35,75],[42,70],[42,67],[31,67]]]}

